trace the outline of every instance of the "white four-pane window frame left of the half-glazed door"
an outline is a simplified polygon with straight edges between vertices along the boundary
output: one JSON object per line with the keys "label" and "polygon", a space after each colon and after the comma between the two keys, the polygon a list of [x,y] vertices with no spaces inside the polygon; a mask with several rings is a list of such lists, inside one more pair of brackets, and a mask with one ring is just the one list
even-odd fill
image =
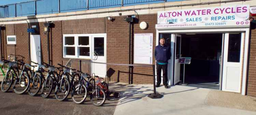
{"label": "white four-pane window frame left of the half-glazed door", "polygon": [[[93,34],[63,34],[63,57],[65,58],[82,58],[82,59],[91,59],[92,52],[92,35]],[[74,45],[65,45],[65,37],[74,37],[75,44]],[[89,37],[89,45],[78,45],[78,37]],[[66,55],[65,47],[75,47],[75,55]],[[79,47],[89,47],[90,48],[90,56],[80,56],[79,55]]]}

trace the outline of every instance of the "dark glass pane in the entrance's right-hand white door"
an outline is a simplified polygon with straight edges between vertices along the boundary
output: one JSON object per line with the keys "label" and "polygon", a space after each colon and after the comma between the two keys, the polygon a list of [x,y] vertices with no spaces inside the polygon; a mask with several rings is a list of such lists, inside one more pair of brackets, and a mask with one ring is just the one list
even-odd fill
{"label": "dark glass pane in the entrance's right-hand white door", "polygon": [[240,62],[241,33],[229,33],[228,62]]}

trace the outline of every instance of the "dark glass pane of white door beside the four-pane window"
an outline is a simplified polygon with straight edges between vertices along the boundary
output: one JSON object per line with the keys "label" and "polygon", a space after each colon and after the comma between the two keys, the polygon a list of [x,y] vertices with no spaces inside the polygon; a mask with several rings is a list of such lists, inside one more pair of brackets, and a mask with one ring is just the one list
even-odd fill
{"label": "dark glass pane of white door beside the four-pane window", "polygon": [[98,56],[104,56],[104,37],[94,38],[94,52]]}

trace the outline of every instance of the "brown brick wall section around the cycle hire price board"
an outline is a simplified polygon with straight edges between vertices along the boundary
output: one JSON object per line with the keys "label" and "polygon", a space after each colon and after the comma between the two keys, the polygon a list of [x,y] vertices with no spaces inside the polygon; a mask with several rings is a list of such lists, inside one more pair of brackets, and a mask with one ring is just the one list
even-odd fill
{"label": "brown brick wall section around the cycle hire price board", "polygon": [[[156,17],[156,14],[140,15],[139,22],[133,25],[134,31],[132,33],[132,38],[134,33],[153,33],[153,46],[155,46]],[[124,21],[123,16],[113,18],[115,19],[113,22],[106,20],[107,63],[129,64],[129,23]],[[140,29],[139,25],[142,21],[147,22],[149,28],[146,30]],[[133,45],[131,50],[133,50]],[[131,58],[133,59],[133,54],[131,55]],[[129,82],[128,66],[107,65],[107,70],[109,68],[112,68],[115,71],[111,76],[111,80],[124,83]],[[134,67],[133,73],[134,84],[153,84],[152,67]]]}

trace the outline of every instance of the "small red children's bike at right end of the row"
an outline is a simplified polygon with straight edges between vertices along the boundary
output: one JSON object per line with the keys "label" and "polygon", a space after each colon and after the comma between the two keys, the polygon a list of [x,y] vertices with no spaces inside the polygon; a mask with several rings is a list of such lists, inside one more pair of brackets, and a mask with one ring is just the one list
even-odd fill
{"label": "small red children's bike at right end of the row", "polygon": [[106,101],[106,93],[108,92],[108,87],[107,84],[105,83],[105,81],[102,81],[102,79],[104,80],[104,78],[101,78],[99,76],[95,76],[98,78],[97,82],[96,82],[96,89],[92,91],[92,94],[90,96],[91,102],[94,106],[101,106],[105,103]]}

